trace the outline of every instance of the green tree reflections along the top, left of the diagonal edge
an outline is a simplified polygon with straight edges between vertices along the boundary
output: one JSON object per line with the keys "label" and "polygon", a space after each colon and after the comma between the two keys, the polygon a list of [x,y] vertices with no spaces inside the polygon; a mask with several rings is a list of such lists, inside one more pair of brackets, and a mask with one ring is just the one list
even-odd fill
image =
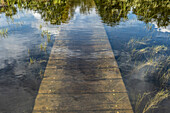
{"label": "green tree reflections along the top, left of the diagonal edge", "polygon": [[91,0],[1,0],[1,4],[3,7],[0,13],[8,17],[12,18],[18,7],[36,11],[43,20],[57,25],[67,23],[73,17],[76,7],[80,7],[80,13],[83,14],[94,7]]}

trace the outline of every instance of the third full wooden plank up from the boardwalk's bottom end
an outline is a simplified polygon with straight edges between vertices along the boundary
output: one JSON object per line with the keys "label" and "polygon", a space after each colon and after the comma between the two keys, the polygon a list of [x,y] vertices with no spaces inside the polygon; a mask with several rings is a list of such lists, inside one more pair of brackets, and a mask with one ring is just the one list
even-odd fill
{"label": "third full wooden plank up from the boardwalk's bottom end", "polygon": [[[74,75],[74,76],[73,76]],[[105,79],[119,79],[120,71],[118,68],[107,68],[107,69],[82,69],[82,70],[64,70],[64,69],[51,69],[46,70],[44,74],[44,80],[51,81],[71,81],[71,80],[105,80]]]}

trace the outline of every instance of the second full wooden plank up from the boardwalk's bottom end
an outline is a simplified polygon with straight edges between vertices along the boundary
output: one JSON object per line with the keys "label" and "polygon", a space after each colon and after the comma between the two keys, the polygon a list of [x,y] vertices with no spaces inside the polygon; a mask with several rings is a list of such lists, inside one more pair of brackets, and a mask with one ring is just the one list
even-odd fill
{"label": "second full wooden plank up from the boardwalk's bottom end", "polygon": [[126,92],[122,79],[48,81],[43,80],[39,93],[109,93]]}

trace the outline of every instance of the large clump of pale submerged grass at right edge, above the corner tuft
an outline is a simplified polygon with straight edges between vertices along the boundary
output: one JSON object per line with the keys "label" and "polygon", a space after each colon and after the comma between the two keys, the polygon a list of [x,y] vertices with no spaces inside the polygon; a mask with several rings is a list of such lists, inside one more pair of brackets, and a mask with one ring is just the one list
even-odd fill
{"label": "large clump of pale submerged grass at right edge, above the corner tuft", "polygon": [[[132,67],[138,72],[143,72],[142,77],[150,80],[159,88],[166,89],[170,78],[170,57],[168,56],[168,47],[165,45],[151,46],[152,37],[142,39],[132,38],[128,43],[130,59],[128,63],[133,62]],[[139,43],[140,42],[140,43]]]}

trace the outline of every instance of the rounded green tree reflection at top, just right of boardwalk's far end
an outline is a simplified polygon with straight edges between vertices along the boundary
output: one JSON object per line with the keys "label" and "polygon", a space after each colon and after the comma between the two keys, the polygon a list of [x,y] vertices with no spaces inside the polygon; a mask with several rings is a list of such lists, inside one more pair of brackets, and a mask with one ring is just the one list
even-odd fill
{"label": "rounded green tree reflection at top, just right of boardwalk's far end", "polygon": [[99,14],[104,23],[114,26],[127,19],[130,2],[125,0],[95,0]]}

